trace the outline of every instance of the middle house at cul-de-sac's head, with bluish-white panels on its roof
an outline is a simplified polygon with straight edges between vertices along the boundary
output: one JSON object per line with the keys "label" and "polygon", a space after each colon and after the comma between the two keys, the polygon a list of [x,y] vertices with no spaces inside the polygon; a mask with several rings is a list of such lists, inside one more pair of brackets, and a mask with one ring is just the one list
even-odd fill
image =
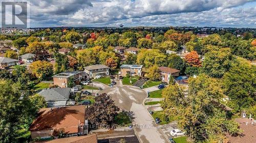
{"label": "middle house at cul-de-sac's head, with bluish-white panels on its roof", "polygon": [[120,75],[126,76],[126,74],[130,74],[131,76],[142,75],[142,67],[143,65],[121,65],[120,66]]}

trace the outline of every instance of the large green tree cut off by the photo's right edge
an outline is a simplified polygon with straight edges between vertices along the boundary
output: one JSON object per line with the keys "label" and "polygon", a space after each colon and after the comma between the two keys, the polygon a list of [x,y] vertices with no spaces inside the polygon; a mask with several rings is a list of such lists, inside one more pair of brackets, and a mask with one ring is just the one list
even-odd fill
{"label": "large green tree cut off by the photo's right edge", "polygon": [[230,98],[230,107],[248,108],[256,101],[256,67],[247,60],[238,58],[223,76],[224,93]]}

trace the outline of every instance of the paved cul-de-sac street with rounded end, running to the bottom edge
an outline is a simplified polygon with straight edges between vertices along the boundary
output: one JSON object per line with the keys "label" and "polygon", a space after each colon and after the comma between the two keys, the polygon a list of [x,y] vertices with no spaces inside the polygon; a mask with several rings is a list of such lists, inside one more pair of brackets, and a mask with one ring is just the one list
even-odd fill
{"label": "paved cul-de-sac street with rounded end, running to the bottom edge", "polygon": [[168,142],[143,106],[143,100],[146,98],[144,90],[130,85],[114,85],[99,93],[110,95],[120,109],[130,111],[133,127],[141,142]]}

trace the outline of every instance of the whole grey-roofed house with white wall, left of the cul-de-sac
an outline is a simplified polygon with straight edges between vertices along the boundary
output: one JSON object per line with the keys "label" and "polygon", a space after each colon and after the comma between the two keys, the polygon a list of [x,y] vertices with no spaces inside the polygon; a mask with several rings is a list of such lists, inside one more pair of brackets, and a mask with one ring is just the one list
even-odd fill
{"label": "whole grey-roofed house with white wall, left of the cul-de-sac", "polygon": [[71,88],[48,88],[38,94],[46,100],[47,107],[64,107],[69,100]]}

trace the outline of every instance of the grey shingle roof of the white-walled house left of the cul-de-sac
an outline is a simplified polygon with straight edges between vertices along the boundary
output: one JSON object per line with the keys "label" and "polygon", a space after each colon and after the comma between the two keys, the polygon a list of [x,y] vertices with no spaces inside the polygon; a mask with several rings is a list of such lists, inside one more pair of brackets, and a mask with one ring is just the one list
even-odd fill
{"label": "grey shingle roof of the white-walled house left of the cul-de-sac", "polygon": [[49,88],[40,91],[38,94],[45,97],[46,102],[69,100],[71,88]]}

